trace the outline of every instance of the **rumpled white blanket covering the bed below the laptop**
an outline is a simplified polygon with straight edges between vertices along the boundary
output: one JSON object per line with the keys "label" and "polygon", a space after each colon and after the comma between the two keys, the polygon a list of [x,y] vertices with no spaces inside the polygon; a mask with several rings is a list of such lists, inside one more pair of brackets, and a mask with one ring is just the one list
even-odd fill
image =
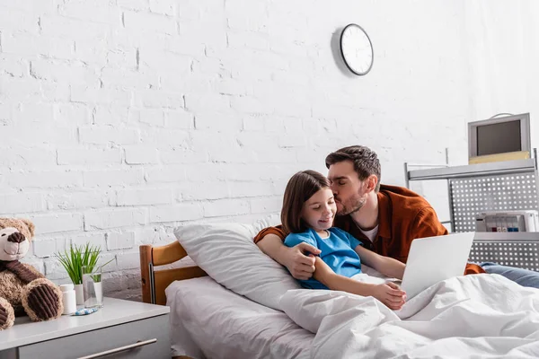
{"label": "rumpled white blanket covering the bed below the laptop", "polygon": [[539,289],[497,275],[459,276],[401,311],[372,297],[300,289],[281,300],[316,333],[313,358],[539,358]]}

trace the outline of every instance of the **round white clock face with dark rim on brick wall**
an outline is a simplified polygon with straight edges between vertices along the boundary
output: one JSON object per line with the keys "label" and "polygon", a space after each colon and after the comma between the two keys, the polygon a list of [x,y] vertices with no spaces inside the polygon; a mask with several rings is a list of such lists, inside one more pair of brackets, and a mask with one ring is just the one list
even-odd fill
{"label": "round white clock face with dark rim on brick wall", "polygon": [[367,74],[373,66],[373,44],[359,25],[350,23],[340,34],[340,53],[354,74]]}

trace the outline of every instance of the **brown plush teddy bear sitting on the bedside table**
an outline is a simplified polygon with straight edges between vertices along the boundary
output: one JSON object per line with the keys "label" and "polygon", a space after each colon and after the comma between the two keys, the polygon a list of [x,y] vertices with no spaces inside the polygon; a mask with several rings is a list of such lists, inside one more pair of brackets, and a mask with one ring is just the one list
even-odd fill
{"label": "brown plush teddy bear sitting on the bedside table", "polygon": [[34,225],[29,220],[0,218],[0,330],[13,326],[15,316],[33,321],[62,315],[62,292],[30,265],[19,262],[30,249]]}

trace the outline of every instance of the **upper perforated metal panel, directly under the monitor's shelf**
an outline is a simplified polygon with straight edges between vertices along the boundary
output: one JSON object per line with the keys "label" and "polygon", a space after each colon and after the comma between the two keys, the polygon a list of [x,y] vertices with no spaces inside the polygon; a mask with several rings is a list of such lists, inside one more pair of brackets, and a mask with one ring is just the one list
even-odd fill
{"label": "upper perforated metal panel, directly under the monitor's shelf", "polygon": [[538,209],[536,176],[529,172],[449,180],[454,231],[475,231],[480,212]]}

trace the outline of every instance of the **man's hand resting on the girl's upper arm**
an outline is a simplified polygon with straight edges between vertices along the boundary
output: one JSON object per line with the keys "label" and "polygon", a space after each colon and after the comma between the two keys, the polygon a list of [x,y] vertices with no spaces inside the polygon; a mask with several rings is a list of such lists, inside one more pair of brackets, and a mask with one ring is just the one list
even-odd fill
{"label": "man's hand resting on the girl's upper arm", "polygon": [[[302,242],[295,247],[285,247],[282,249],[280,263],[288,268],[288,271],[296,279],[307,280],[314,273],[314,255],[320,254],[321,250],[316,247]],[[309,253],[305,255],[305,253]]]}

